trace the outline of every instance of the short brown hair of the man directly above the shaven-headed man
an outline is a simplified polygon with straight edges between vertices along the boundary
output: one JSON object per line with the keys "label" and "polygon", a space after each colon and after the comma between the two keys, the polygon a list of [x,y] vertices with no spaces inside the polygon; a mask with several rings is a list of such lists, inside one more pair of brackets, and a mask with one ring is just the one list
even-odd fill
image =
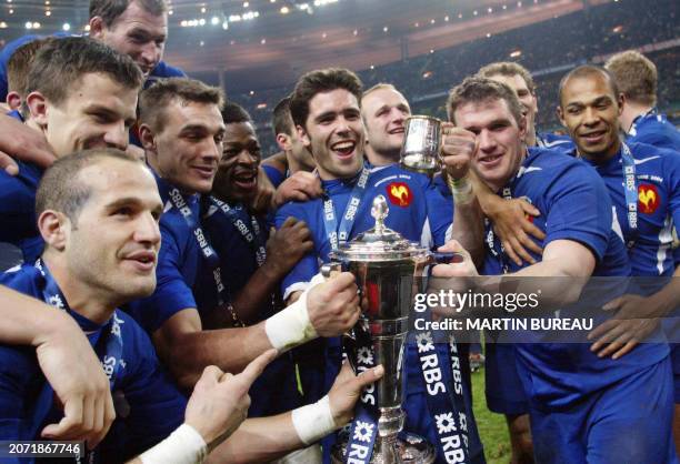
{"label": "short brown hair of the man directly above the shaven-headed man", "polygon": [[102,73],[128,89],[140,89],[143,75],[130,57],[86,37],[52,40],[40,48],[28,73],[26,93],[40,92],[60,104],[84,74]]}

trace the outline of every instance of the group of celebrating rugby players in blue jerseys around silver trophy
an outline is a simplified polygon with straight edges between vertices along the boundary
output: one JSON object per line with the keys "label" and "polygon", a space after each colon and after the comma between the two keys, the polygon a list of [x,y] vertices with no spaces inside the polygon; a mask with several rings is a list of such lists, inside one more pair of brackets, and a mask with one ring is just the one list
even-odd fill
{"label": "group of celebrating rugby players in blue jerseys around silver trophy", "polygon": [[[450,92],[431,179],[399,165],[403,94],[346,69],[299,79],[262,162],[243,108],[160,61],[167,29],[163,0],[92,0],[90,37],[0,52],[0,261],[23,262],[0,276],[2,440],[84,440],[92,462],[329,462],[383,369],[343,364],[361,295],[319,270],[379,194],[387,226],[464,258],[440,282],[573,278],[552,302],[569,307],[590,276],[678,273],[680,135],[637,52],[564,75],[569,137],[538,132],[524,68],[480,69]],[[591,343],[487,334],[513,463],[677,461],[680,353],[659,321],[679,293],[619,293]],[[437,462],[483,463],[468,345],[436,343],[434,377],[422,340],[400,363],[403,428]]]}

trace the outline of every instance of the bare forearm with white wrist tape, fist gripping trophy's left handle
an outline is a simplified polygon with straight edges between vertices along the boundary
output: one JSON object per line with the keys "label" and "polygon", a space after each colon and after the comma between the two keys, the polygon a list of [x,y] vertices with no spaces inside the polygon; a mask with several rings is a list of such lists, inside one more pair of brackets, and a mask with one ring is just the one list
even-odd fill
{"label": "bare forearm with white wrist tape, fist gripping trophy's left handle", "polygon": [[343,272],[320,283],[294,304],[249,327],[202,331],[196,309],[186,309],[153,333],[158,354],[179,384],[191,389],[204,366],[241,371],[267,350],[290,350],[317,336],[338,336],[358,320],[354,278]]}

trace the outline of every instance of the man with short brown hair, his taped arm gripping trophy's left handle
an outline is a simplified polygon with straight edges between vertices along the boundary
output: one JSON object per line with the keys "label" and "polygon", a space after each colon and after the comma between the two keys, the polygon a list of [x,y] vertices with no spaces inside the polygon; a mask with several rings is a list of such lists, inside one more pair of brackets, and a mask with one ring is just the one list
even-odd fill
{"label": "man with short brown hair, his taped arm gripping trophy's left handle", "polygon": [[[238,372],[271,347],[284,352],[318,336],[339,335],[358,317],[353,276],[329,279],[310,289],[300,304],[254,325],[203,331],[194,293],[208,279],[218,304],[207,311],[233,312],[229,282],[203,232],[201,195],[210,193],[226,133],[222,92],[200,81],[172,78],[140,97],[140,138],[164,204],[158,286],[128,309],[152,335],[159,356],[187,390],[203,367]],[[242,186],[249,181],[244,181]]]}

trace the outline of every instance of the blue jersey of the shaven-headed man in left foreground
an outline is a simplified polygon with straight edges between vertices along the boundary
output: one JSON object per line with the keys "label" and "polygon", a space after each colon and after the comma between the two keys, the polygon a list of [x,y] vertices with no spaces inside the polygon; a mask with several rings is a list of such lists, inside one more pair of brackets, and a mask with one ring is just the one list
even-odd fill
{"label": "blue jersey of the shaven-headed man in left foreground", "polygon": [[[43,300],[46,279],[32,265],[0,275],[0,283]],[[80,314],[70,314],[88,332],[93,347],[102,336],[109,335],[107,324],[98,325]],[[149,336],[124,312],[116,310],[116,317],[121,330],[122,355],[111,391],[114,399],[122,394],[129,411],[119,407],[121,401],[114,402],[116,421],[98,448],[107,462],[131,457],[167,437],[182,424],[187,407],[187,400],[161,370]],[[98,353],[98,356],[103,354]],[[0,345],[0,438],[42,440],[42,428],[63,416],[57,404],[54,392],[40,371],[34,349]]]}

